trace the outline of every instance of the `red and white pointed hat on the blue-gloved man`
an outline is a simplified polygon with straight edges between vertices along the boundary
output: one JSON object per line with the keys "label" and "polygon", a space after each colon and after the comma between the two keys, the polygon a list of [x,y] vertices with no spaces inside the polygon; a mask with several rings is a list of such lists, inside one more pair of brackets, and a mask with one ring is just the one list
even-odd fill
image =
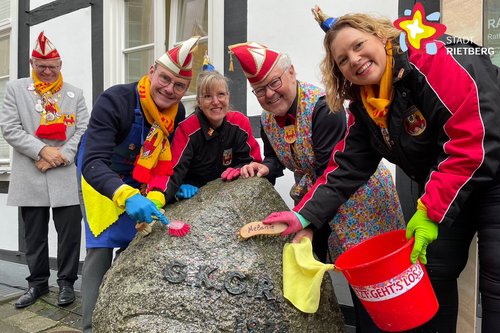
{"label": "red and white pointed hat on the blue-gloved man", "polygon": [[195,36],[177,44],[159,57],[156,63],[180,77],[190,79],[193,76],[193,50],[199,39],[199,36]]}

